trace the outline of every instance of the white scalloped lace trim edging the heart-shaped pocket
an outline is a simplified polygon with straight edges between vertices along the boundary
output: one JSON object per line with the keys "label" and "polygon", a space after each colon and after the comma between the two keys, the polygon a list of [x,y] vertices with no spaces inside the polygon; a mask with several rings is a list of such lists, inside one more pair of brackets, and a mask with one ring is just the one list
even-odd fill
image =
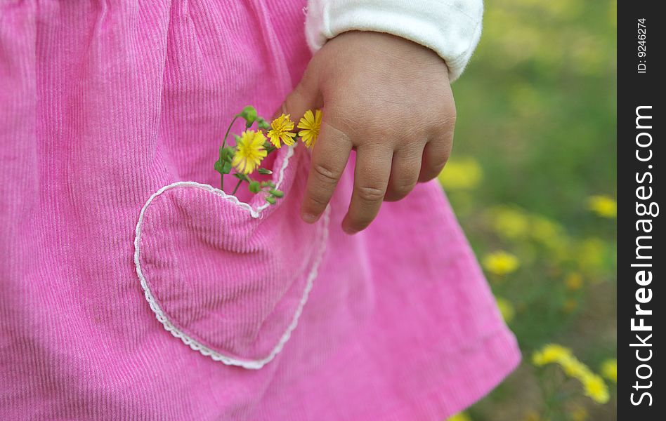
{"label": "white scalloped lace trim edging the heart-shaped pocket", "polygon": [[[285,177],[285,168],[287,168],[289,158],[294,154],[293,147],[289,147],[289,150],[287,151],[287,154],[285,156],[285,159],[282,161],[282,168],[280,168],[280,173],[278,174],[278,181],[275,183],[275,188],[279,188],[280,185],[282,184],[282,180]],[[294,317],[292,318],[292,323],[287,326],[287,330],[285,331],[284,334],[282,334],[282,338],[278,341],[278,344],[275,345],[273,348],[273,351],[268,354],[263,359],[258,359],[258,360],[242,360],[242,359],[235,359],[231,356],[227,356],[224,354],[221,354],[220,352],[215,351],[214,349],[211,349],[207,347],[206,345],[203,345],[201,342],[198,342],[194,338],[191,338],[187,333],[184,333],[182,330],[178,329],[176,326],[174,326],[174,323],[171,323],[169,319],[166,317],[166,314],[164,314],[164,311],[159,307],[157,302],[155,301],[155,296],[152,295],[152,291],[150,290],[150,287],[148,286],[148,282],[145,280],[145,276],[143,275],[143,271],[141,270],[141,260],[139,259],[141,250],[140,250],[140,245],[141,245],[141,227],[143,225],[143,218],[145,215],[145,210],[148,209],[148,206],[150,206],[150,203],[160,194],[166,192],[169,189],[174,189],[176,187],[194,187],[197,189],[203,189],[207,190],[208,192],[212,192],[214,194],[217,194],[218,196],[221,196],[222,199],[226,199],[230,201],[231,203],[234,203],[235,205],[239,206],[240,208],[247,210],[250,215],[252,215],[252,218],[259,218],[261,215],[261,212],[268,208],[269,203],[265,203],[262,206],[257,207],[256,209],[253,209],[252,206],[250,206],[248,203],[244,203],[236,196],[226,194],[220,189],[216,189],[215,187],[212,187],[210,185],[204,185],[200,184],[198,182],[193,182],[193,181],[179,181],[179,182],[174,182],[173,184],[166,185],[162,187],[161,189],[157,190],[157,192],[153,193],[148,201],[145,202],[145,205],[143,205],[143,208],[141,208],[141,213],[139,213],[139,218],[138,222],[136,224],[136,231],[135,231],[135,237],[134,237],[134,265],[136,265],[136,274],[138,276],[139,281],[141,281],[141,288],[143,288],[143,293],[145,295],[146,301],[148,301],[148,304],[150,305],[150,309],[152,310],[153,313],[155,313],[155,316],[157,317],[157,320],[162,323],[162,326],[164,326],[164,329],[166,329],[168,332],[171,333],[171,335],[174,335],[176,338],[179,338],[180,340],[185,343],[185,345],[188,345],[192,350],[198,351],[201,354],[205,356],[211,357],[211,359],[214,359],[214,361],[220,361],[221,363],[225,363],[229,366],[240,366],[243,368],[249,368],[249,369],[254,369],[257,370],[263,366],[266,365],[266,363],[270,362],[272,359],[275,358],[276,355],[282,351],[282,347],[285,346],[285,343],[289,340],[289,338],[292,335],[292,331],[296,328],[296,325],[299,323],[299,317],[301,316],[301,312],[303,312],[303,306],[305,306],[306,302],[308,301],[308,296],[310,295],[310,291],[312,289],[313,283],[315,278],[317,277],[318,274],[318,269],[319,265],[322,261],[322,258],[324,256],[324,251],[326,249],[326,243],[328,239],[328,224],[329,224],[329,208],[326,208],[324,214],[322,215],[322,224],[319,227],[320,231],[320,236],[321,236],[321,243],[320,247],[316,251],[315,255],[315,260],[312,265],[312,269],[308,273],[308,279],[306,280],[306,287],[303,290],[303,295],[301,296],[301,300],[299,302],[298,307],[296,307],[296,312],[294,312]]]}

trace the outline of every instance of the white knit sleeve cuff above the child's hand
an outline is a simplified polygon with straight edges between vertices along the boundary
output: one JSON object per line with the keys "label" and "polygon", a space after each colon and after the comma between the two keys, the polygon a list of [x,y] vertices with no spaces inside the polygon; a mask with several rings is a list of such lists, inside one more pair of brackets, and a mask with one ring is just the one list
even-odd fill
{"label": "white knit sleeve cuff above the child's hand", "polygon": [[483,0],[308,0],[306,38],[317,51],[347,31],[401,36],[436,51],[454,80],[476,48],[482,15]]}

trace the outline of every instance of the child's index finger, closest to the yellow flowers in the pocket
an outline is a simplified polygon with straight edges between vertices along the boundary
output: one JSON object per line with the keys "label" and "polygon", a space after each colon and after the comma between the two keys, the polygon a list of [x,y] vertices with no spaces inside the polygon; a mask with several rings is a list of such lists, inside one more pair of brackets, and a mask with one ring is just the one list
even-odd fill
{"label": "child's index finger, closest to the yellow flowers in the pocket", "polygon": [[322,121],[301,205],[301,218],[305,222],[315,222],[326,209],[347,165],[352,146],[348,135]]}

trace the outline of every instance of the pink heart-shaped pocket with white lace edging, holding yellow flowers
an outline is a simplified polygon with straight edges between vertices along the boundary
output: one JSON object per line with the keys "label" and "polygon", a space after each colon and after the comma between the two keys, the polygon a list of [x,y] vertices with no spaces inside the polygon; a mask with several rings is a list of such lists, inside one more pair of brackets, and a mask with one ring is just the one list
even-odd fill
{"label": "pink heart-shaped pocket with white lace edging, holding yellow flowers", "polygon": [[[303,148],[300,148],[301,150]],[[324,253],[328,215],[299,218],[307,154],[284,148],[275,205],[249,203],[197,182],[176,182],[145,203],[134,262],[145,298],[164,328],[192,349],[261,368],[296,328]],[[295,161],[294,163],[290,163]]]}

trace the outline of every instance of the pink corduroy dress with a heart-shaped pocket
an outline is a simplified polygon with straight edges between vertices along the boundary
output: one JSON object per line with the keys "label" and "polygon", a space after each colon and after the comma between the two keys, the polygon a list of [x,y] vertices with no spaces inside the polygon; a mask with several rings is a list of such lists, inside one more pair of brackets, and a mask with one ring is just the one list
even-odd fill
{"label": "pink corduroy dress with a heart-shaped pocket", "polygon": [[302,145],[277,205],[217,188],[302,0],[0,4],[1,420],[443,420],[516,366],[435,182],[355,236],[352,162],[315,225]]}

